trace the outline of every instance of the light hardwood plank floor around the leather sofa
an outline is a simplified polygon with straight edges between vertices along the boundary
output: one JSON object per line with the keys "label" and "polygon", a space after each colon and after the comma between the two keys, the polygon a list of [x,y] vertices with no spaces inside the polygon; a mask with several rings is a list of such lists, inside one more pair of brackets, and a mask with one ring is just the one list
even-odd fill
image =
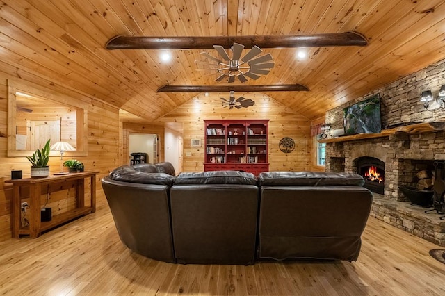
{"label": "light hardwood plank floor around the leather sofa", "polygon": [[370,217],[358,261],[177,265],[134,254],[108,205],[44,233],[0,243],[6,295],[445,295],[441,247]]}

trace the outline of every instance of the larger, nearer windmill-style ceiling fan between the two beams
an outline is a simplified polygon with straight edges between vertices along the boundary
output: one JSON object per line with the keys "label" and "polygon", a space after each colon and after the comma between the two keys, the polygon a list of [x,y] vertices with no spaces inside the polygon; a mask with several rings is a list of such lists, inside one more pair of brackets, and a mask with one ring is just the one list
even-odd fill
{"label": "larger, nearer windmill-style ceiling fan between the two beams", "polygon": [[214,71],[214,74],[220,74],[215,81],[223,81],[223,79],[228,79],[227,82],[233,83],[235,81],[235,77],[241,82],[248,81],[246,77],[250,79],[259,79],[260,75],[268,74],[270,69],[272,69],[275,65],[270,54],[256,58],[256,56],[263,52],[256,45],[252,47],[247,54],[241,57],[244,45],[234,43],[231,48],[232,58],[230,58],[229,54],[227,54],[222,45],[213,45],[213,48],[216,49],[222,60],[211,56],[204,51],[201,53],[201,56],[203,56],[206,60],[216,63],[208,63],[206,61],[199,60],[195,60],[195,63],[208,66],[200,70]]}

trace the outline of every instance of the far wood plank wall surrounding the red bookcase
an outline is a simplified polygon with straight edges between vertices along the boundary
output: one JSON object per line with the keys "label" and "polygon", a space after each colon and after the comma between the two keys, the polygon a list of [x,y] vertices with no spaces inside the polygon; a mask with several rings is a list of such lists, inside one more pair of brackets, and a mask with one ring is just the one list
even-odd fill
{"label": "far wood plank wall surrounding the red bookcase", "polygon": [[[184,172],[204,170],[204,145],[191,147],[192,139],[204,143],[204,120],[211,119],[268,119],[269,122],[269,170],[301,171],[312,167],[311,121],[291,111],[273,98],[260,93],[235,93],[235,97],[255,101],[254,106],[241,109],[223,108],[220,97],[229,94],[211,93],[197,95],[186,104],[163,116],[159,121],[184,124]],[[292,138],[296,148],[289,154],[280,151],[278,143],[284,137]]]}

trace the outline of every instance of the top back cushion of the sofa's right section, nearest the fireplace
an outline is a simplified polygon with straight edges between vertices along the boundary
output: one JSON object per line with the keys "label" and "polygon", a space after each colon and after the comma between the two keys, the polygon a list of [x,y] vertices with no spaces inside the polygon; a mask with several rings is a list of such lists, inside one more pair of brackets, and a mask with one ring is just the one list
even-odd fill
{"label": "top back cushion of the sofa's right section, nearest the fireplace", "polygon": [[348,172],[262,172],[260,186],[363,186],[359,174]]}

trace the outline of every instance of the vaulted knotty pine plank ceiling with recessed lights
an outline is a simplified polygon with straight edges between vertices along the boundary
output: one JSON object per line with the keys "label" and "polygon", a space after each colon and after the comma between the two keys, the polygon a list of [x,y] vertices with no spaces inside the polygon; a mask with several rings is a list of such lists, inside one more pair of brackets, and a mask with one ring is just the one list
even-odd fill
{"label": "vaulted knotty pine plank ceiling with recessed lights", "polygon": [[29,81],[66,85],[155,121],[197,95],[157,93],[163,85],[227,81],[197,71],[202,50],[170,50],[164,63],[163,50],[106,50],[116,35],[362,33],[366,47],[307,48],[307,58],[296,58],[298,49],[264,49],[275,67],[244,83],[307,86],[266,94],[314,119],[445,58],[444,17],[443,0],[0,0],[0,62]]}

